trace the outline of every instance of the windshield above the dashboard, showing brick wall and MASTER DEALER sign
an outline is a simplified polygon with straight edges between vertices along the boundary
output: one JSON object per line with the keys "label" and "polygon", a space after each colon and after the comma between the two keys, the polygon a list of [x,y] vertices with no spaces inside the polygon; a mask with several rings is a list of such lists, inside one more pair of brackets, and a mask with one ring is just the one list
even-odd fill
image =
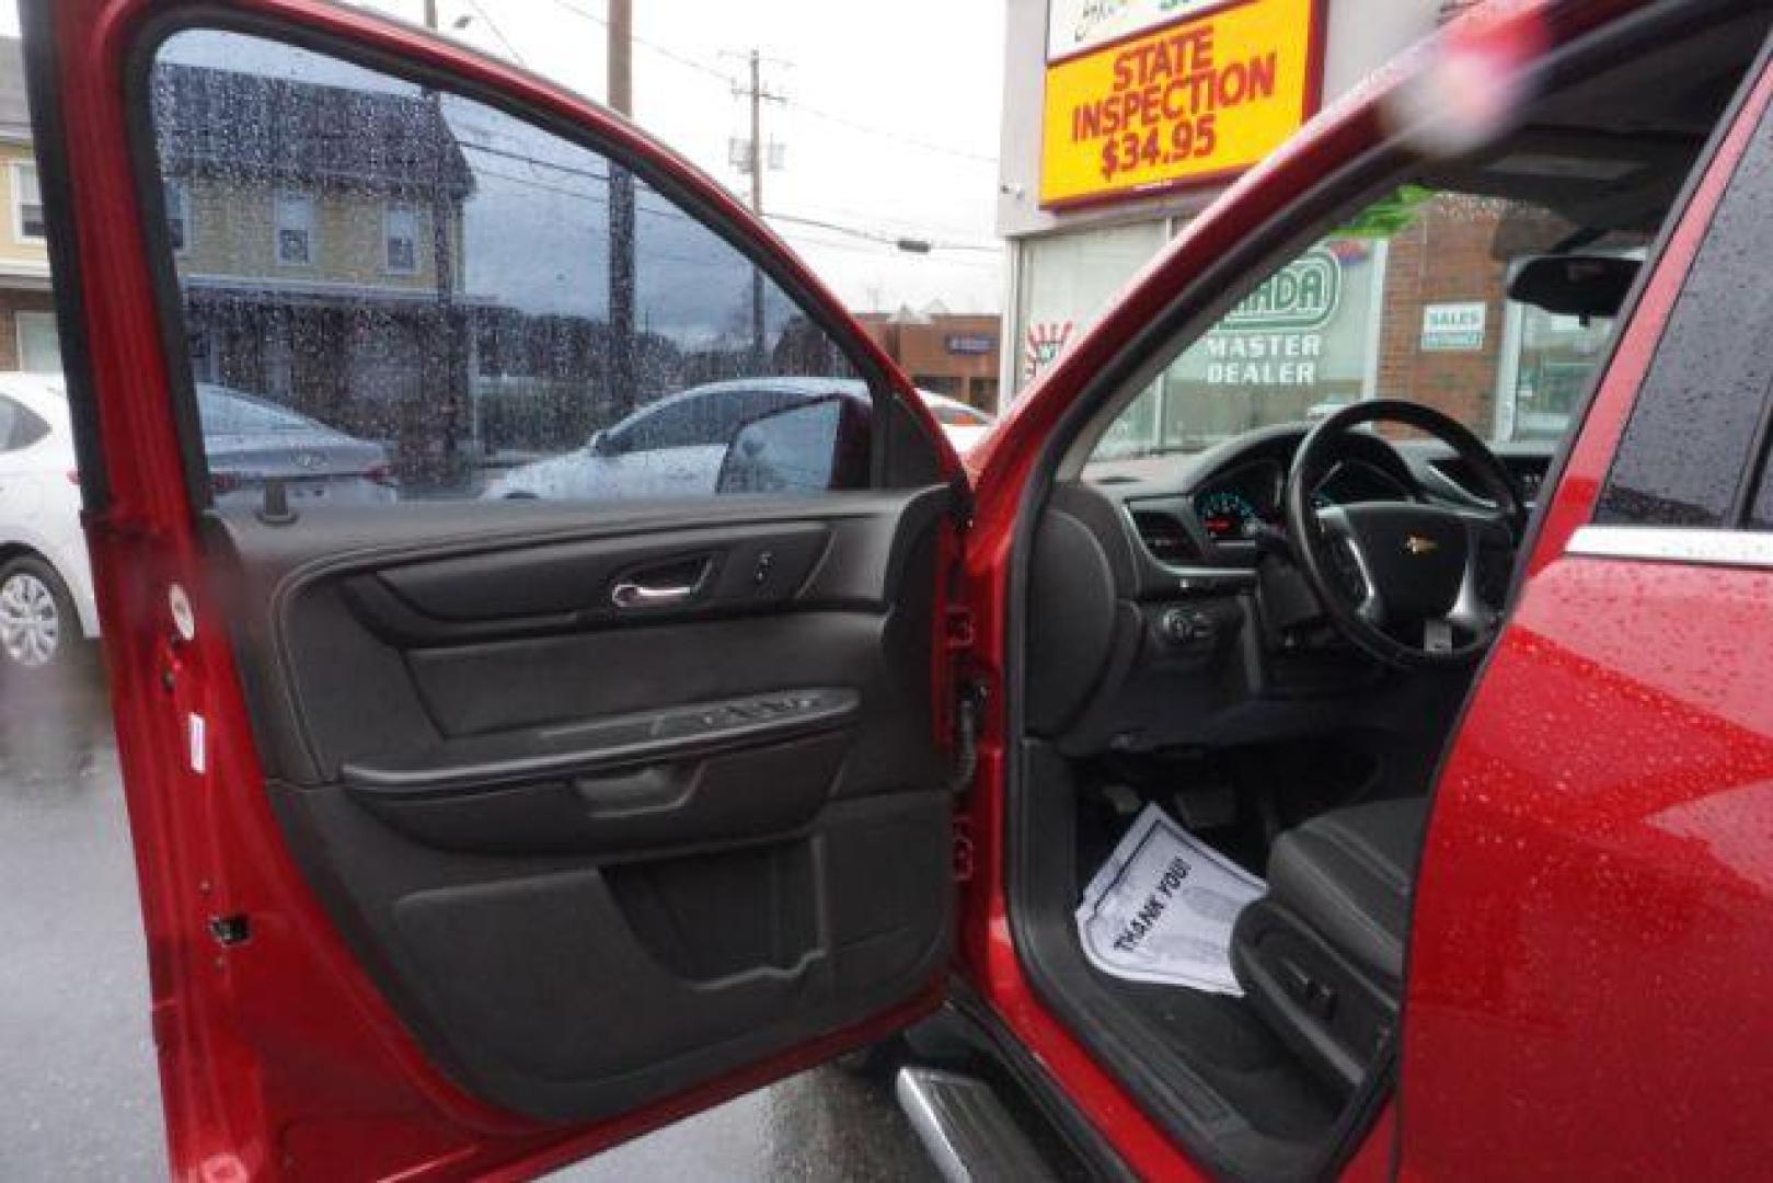
{"label": "windshield above the dashboard, showing brick wall and MASTER DEALER sign", "polygon": [[1612,337],[1608,316],[1511,300],[1534,255],[1601,241],[1518,200],[1406,186],[1273,271],[1184,348],[1092,459],[1195,452],[1358,399],[1410,399],[1489,442],[1562,436]]}

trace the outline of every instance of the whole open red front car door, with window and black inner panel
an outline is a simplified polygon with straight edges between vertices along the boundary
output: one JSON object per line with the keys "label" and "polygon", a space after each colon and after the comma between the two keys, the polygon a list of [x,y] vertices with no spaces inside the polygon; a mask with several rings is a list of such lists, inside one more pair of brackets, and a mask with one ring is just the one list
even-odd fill
{"label": "whole open red front car door, with window and black inner panel", "polygon": [[177,1176],[530,1174],[927,1013],[965,482],[631,126],[27,0]]}

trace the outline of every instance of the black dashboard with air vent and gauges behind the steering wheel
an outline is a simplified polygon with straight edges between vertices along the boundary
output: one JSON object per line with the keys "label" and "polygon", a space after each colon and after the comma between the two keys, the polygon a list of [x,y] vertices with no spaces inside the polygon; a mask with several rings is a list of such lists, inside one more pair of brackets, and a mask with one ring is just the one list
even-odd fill
{"label": "black dashboard with air vent and gauges behind the steering wheel", "polygon": [[[1092,461],[1053,486],[1028,582],[1032,734],[1067,754],[1140,752],[1418,709],[1413,681],[1339,644],[1296,573],[1261,562],[1261,539],[1285,530],[1284,490],[1305,433],[1275,426],[1202,452]],[[1477,474],[1438,442],[1353,431],[1337,447],[1314,490],[1319,505],[1486,505]],[[1495,452],[1532,500],[1553,447]],[[1378,708],[1374,695],[1388,693],[1401,697]]]}

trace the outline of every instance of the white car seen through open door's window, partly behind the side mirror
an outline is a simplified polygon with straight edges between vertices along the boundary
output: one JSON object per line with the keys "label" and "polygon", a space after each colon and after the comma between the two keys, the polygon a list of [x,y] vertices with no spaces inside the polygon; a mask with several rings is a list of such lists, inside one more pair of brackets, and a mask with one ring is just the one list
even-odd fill
{"label": "white car seen through open door's window, partly behind the side mirror", "polygon": [[[511,468],[489,481],[482,497],[706,497],[715,491],[727,443],[743,424],[830,394],[865,399],[867,385],[832,378],[746,378],[691,387],[598,431],[574,452]],[[918,394],[957,452],[965,454],[991,429],[993,419],[966,403],[929,390]]]}

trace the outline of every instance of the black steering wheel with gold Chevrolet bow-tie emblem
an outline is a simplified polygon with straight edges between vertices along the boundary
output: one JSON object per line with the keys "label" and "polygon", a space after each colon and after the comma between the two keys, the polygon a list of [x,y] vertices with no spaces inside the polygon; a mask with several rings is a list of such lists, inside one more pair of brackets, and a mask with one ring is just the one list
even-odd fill
{"label": "black steering wheel with gold Chevrolet bow-tie emblem", "polygon": [[[1420,500],[1324,505],[1317,486],[1342,438],[1362,424],[1394,422],[1434,436],[1463,459],[1488,509]],[[1459,422],[1420,403],[1353,403],[1319,422],[1287,472],[1287,537],[1330,624],[1369,656],[1399,669],[1464,665],[1491,642],[1500,605],[1482,596],[1480,562],[1512,560],[1525,525],[1514,477]]]}

